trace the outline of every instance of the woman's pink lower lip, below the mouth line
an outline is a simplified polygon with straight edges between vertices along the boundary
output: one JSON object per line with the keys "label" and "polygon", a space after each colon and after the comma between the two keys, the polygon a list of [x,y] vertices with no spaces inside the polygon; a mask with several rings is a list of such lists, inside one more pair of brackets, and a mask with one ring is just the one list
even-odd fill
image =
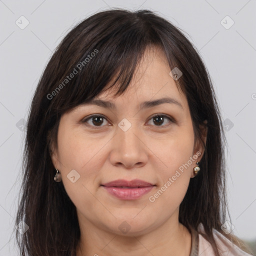
{"label": "woman's pink lower lip, below the mouth line", "polygon": [[103,187],[107,190],[108,193],[123,200],[137,199],[140,196],[148,193],[153,188],[153,186],[136,187],[136,188],[122,188],[122,187],[114,187],[114,186],[103,186]]}

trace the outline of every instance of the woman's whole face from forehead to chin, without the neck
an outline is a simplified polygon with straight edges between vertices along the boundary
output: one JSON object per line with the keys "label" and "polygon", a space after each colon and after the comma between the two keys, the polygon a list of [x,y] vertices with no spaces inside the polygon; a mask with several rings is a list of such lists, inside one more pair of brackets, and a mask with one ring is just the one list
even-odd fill
{"label": "woman's whole face from forehead to chin, without the neck", "polygon": [[[178,222],[203,147],[194,145],[187,100],[169,73],[164,53],[147,50],[124,94],[94,98],[114,107],[84,104],[61,116],[52,161],[84,228],[138,235]],[[179,103],[143,103],[161,98]],[[102,185],[117,179],[152,185]]]}

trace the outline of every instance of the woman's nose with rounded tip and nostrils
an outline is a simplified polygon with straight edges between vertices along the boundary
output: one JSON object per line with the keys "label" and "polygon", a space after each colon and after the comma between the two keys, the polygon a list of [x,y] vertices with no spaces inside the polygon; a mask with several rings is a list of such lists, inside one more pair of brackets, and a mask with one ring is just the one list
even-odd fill
{"label": "woman's nose with rounded tip and nostrils", "polygon": [[112,139],[110,162],[113,166],[137,168],[146,164],[148,154],[143,136],[131,125],[126,131],[117,127]]}

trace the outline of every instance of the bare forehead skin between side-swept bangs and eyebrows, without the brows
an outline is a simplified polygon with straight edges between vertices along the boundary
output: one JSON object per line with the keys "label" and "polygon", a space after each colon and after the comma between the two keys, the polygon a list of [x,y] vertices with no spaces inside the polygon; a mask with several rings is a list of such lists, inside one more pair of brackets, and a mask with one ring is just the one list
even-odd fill
{"label": "bare forehead skin between side-swept bangs and eyebrows, without the brows", "polygon": [[136,67],[130,84],[121,95],[114,96],[116,88],[112,87],[94,99],[134,103],[169,97],[173,101],[180,102],[185,108],[186,97],[178,90],[170,71],[164,52],[158,47],[147,48]]}

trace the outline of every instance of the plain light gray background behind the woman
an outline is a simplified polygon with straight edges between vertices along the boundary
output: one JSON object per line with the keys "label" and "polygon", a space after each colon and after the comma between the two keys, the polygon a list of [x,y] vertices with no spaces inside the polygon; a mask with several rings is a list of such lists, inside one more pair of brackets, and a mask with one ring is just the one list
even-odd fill
{"label": "plain light gray background behind the woman", "polygon": [[[226,125],[233,232],[243,239],[256,238],[255,0],[0,0],[0,255],[17,255],[10,234],[21,178],[22,123],[39,77],[66,32],[109,7],[157,11],[200,50]],[[24,29],[15,23],[24,24],[21,15],[29,21]],[[221,22],[226,15],[234,21],[228,29],[224,26],[231,20]]]}

